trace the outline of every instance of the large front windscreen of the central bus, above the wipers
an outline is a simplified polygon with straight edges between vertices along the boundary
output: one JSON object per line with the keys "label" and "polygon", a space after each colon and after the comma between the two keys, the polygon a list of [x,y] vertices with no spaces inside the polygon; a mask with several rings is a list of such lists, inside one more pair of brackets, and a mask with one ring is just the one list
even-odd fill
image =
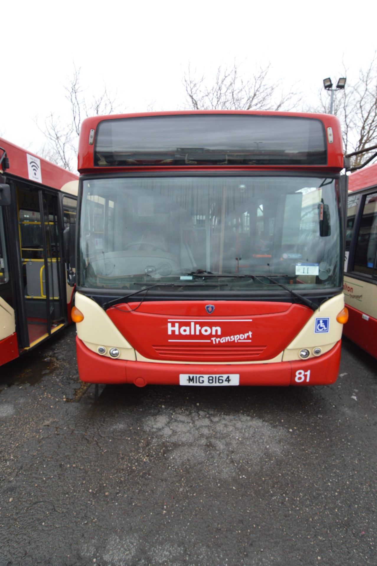
{"label": "large front windscreen of the central bus, above the wipers", "polygon": [[[84,179],[79,225],[78,285],[83,288],[135,291],[138,285],[160,283],[174,284],[178,295],[190,284],[192,293],[249,293],[272,285],[274,277],[290,289],[341,286],[334,178],[150,174]],[[158,290],[171,294],[168,285]]]}

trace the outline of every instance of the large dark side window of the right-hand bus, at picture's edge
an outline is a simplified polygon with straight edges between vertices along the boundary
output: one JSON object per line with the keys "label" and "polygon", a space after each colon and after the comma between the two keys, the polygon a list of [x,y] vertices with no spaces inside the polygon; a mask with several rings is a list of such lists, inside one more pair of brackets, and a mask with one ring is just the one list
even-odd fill
{"label": "large dark side window of the right-hand bus, at picture's edge", "polygon": [[366,196],[355,252],[355,271],[373,275],[377,254],[377,192]]}

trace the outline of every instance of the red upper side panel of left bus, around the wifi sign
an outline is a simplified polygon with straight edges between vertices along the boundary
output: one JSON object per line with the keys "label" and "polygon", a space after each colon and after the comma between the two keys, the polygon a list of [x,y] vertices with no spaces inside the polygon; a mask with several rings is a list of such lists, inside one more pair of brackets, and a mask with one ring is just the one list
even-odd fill
{"label": "red upper side panel of left bus, around the wifi sign", "polygon": [[[0,147],[5,149],[7,157],[9,158],[9,169],[4,171],[6,174],[15,175],[16,177],[29,180],[26,157],[26,154],[28,153],[28,155],[37,157],[41,162],[41,185],[46,185],[47,187],[53,187],[60,190],[65,183],[68,183],[69,181],[78,181],[78,176],[74,173],[70,173],[70,171],[66,171],[62,167],[46,161],[31,151],[22,149],[18,147],[18,145],[12,144],[10,141],[0,138]],[[2,152],[0,152],[0,156],[1,155]],[[33,182],[37,181],[33,179]]]}

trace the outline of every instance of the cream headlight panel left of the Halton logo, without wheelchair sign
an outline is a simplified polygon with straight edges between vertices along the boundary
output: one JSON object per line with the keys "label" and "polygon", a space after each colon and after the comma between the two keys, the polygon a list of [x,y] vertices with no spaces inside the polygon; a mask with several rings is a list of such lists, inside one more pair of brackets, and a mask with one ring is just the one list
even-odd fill
{"label": "cream headlight panel left of the Halton logo, without wheelchair sign", "polygon": [[[77,336],[90,350],[97,351],[98,346],[104,346],[106,349],[118,348],[121,354],[116,359],[136,359],[135,350],[121,335],[103,308],[81,293],[75,294],[75,306],[84,315],[84,320],[76,324]],[[104,355],[111,358],[108,352]]]}

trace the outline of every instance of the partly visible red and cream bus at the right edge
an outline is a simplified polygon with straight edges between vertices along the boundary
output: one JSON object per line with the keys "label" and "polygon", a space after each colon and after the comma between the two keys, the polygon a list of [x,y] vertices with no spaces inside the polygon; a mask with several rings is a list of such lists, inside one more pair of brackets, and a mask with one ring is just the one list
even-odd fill
{"label": "partly visible red and cream bus at the right edge", "polygon": [[377,164],[349,176],[345,336],[377,358]]}

